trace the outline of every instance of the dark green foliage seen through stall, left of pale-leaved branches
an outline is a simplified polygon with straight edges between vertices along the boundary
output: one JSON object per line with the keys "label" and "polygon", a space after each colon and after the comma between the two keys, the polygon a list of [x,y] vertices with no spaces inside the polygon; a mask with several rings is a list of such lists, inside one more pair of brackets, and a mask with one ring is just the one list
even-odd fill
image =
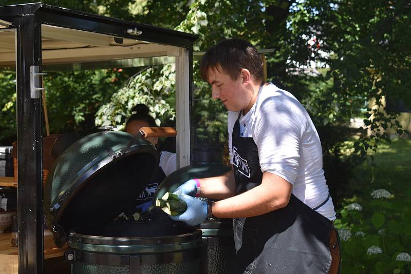
{"label": "dark green foliage seen through stall, left of pale-leaved branches", "polygon": [[95,113],[124,80],[117,69],[48,72],[44,83],[51,133],[96,132]]}

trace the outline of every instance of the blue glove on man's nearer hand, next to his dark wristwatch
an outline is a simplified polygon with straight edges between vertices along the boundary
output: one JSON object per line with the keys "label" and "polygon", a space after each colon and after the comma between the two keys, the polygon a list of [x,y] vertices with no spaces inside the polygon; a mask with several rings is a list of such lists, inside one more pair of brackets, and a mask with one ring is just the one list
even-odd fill
{"label": "blue glove on man's nearer hand, next to his dark wristwatch", "polygon": [[181,201],[187,204],[187,210],[177,216],[170,216],[174,221],[184,222],[188,225],[198,225],[207,219],[207,203],[189,195],[178,195]]}

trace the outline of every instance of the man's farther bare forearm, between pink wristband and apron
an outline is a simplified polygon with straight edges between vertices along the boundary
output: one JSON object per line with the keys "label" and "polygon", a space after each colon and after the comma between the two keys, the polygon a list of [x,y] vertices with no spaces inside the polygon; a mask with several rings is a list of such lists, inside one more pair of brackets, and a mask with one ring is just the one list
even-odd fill
{"label": "man's farther bare forearm, between pink wristband and apron", "polygon": [[199,197],[222,200],[235,195],[235,180],[232,170],[210,178],[198,179],[200,183]]}

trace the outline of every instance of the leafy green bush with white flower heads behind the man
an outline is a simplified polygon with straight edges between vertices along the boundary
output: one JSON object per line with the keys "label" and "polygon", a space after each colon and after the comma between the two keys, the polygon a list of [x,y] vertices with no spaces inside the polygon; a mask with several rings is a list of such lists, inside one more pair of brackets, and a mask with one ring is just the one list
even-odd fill
{"label": "leafy green bush with white flower heads behind the man", "polygon": [[411,257],[399,255],[411,250],[411,208],[385,189],[372,191],[370,198],[346,205],[334,223],[340,229],[343,273],[409,273]]}

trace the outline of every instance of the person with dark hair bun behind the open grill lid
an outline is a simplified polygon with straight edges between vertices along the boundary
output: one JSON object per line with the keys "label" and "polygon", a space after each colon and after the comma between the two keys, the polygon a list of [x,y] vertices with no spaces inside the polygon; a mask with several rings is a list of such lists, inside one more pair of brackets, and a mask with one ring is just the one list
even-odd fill
{"label": "person with dark hair bun behind the open grill lid", "polygon": [[[140,128],[142,127],[157,127],[154,118],[148,114],[150,109],[144,104],[137,104],[133,108],[134,113],[128,118],[125,124],[126,132],[136,135]],[[152,143],[154,146],[158,143],[158,137],[146,138],[148,142]],[[158,185],[164,180],[170,173],[177,169],[176,166],[177,158],[176,153],[169,151],[160,152],[160,163],[157,170],[154,172],[153,177],[149,180],[144,191],[139,195],[136,203],[133,204],[132,209],[137,209],[138,211],[145,212],[150,206],[153,200],[154,193],[157,190]]]}

